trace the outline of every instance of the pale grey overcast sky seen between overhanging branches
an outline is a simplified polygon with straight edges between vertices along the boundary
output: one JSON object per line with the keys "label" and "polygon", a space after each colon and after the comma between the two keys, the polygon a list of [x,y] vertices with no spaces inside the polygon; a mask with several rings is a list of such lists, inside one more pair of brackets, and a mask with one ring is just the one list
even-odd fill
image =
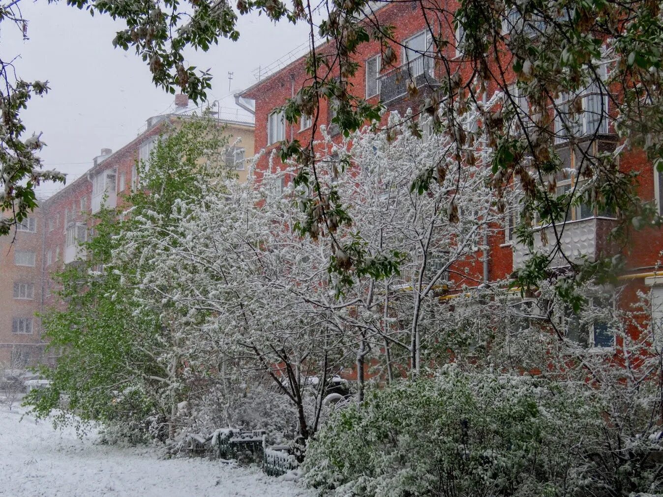
{"label": "pale grey overcast sky seen between overhanging branches", "polygon": [[[3,60],[15,55],[17,74],[24,80],[48,80],[51,90],[33,97],[21,114],[27,133],[42,131],[48,146],[42,150],[44,167],[69,174],[72,181],[91,166],[101,148],[117,150],[136,137],[145,120],[166,111],[173,96],[151,82],[147,65],[133,52],[113,48],[122,25],[109,17],[79,11],[45,0],[19,4],[29,20],[29,40],[3,25]],[[237,42],[220,40],[207,53],[192,52],[188,63],[211,68],[210,101],[223,99],[234,106],[231,94],[256,82],[253,71],[268,66],[306,43],[308,28],[286,21],[277,25],[264,16],[239,19]],[[13,28],[13,27],[12,27]],[[233,72],[229,91],[228,72]],[[58,187],[46,184],[40,197]]]}

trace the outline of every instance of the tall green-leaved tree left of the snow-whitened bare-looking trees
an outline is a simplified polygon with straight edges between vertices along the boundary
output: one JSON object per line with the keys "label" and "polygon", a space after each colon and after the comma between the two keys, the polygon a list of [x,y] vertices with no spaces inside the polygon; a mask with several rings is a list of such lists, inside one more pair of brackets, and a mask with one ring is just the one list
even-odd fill
{"label": "tall green-leaved tree left of the snow-whitened bare-looking trees", "polygon": [[195,203],[223,188],[235,172],[225,168],[221,131],[206,118],[174,123],[139,164],[141,184],[126,197],[130,207],[91,219],[86,258],[57,276],[66,308],[44,316],[48,347],[65,353],[56,368],[42,368],[48,390],[27,398],[39,417],[66,399],[57,421],[76,412],[83,421],[125,425],[131,436],[172,437],[191,373],[182,362],[180,333],[195,319],[146,290],[138,268],[150,261],[118,258],[115,251],[142,226],[139,220],[158,219],[152,233],[165,236],[177,229],[169,219],[178,202]]}

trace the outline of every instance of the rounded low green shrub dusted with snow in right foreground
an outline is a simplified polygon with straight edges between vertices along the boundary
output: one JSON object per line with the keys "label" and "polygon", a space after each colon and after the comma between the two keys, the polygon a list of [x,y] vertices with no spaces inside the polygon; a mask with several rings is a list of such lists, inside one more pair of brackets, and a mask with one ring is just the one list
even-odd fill
{"label": "rounded low green shrub dusted with snow in right foreground", "polygon": [[583,382],[446,366],[331,417],[305,480],[339,496],[619,495],[593,457],[609,456],[600,399]]}

